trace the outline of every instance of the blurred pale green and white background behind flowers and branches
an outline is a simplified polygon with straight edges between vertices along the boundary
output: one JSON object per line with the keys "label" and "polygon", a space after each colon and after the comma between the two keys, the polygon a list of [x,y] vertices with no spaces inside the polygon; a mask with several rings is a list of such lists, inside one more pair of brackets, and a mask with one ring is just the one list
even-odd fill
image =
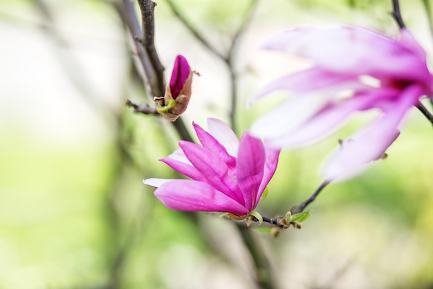
{"label": "blurred pale green and white background behind flowers and branches", "polygon": [[[165,1],[156,2],[156,48],[167,78],[178,53],[201,73],[183,116],[188,128],[193,120],[205,126],[209,116],[228,121],[228,71]],[[299,67],[259,51],[267,35],[341,23],[395,35],[390,2],[260,1],[234,54],[237,133],[273,105],[246,110],[246,98]],[[177,177],[157,161],[176,148],[177,135],[124,105],[149,98],[113,3],[0,3],[0,288],[255,288],[232,222],[170,211],[142,184]],[[175,3],[224,51],[249,1]],[[402,1],[401,9],[431,59],[422,2]],[[262,215],[284,215],[308,198],[337,140],[367,119],[356,116],[326,141],[284,152]],[[431,124],[413,110],[389,157],[326,188],[301,230],[276,239],[257,233],[279,288],[433,288],[432,142]]]}

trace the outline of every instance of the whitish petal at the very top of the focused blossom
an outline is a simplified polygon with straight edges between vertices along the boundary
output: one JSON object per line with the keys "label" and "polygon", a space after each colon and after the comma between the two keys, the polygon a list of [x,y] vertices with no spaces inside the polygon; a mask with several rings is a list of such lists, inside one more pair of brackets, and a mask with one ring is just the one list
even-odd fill
{"label": "whitish petal at the very top of the focused blossom", "polygon": [[219,119],[208,119],[208,130],[212,136],[221,143],[228,154],[237,157],[239,139],[227,123]]}

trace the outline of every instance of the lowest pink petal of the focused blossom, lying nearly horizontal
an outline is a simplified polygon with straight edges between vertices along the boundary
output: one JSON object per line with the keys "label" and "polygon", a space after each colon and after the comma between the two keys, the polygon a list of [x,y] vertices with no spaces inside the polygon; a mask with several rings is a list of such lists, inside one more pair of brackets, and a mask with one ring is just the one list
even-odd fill
{"label": "lowest pink petal of the focused blossom, lying nearly horizontal", "polygon": [[188,179],[165,182],[156,189],[155,195],[165,206],[178,211],[217,211],[237,216],[249,213],[246,207],[210,184]]}

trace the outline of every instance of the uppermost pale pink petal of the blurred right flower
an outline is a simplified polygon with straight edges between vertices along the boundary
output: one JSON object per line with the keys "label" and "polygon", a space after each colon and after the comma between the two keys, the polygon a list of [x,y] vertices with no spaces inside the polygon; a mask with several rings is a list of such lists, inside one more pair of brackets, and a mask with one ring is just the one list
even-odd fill
{"label": "uppermost pale pink petal of the blurred right flower", "polygon": [[317,67],[346,76],[429,81],[419,49],[365,28],[296,28],[271,37],[264,47],[308,58]]}

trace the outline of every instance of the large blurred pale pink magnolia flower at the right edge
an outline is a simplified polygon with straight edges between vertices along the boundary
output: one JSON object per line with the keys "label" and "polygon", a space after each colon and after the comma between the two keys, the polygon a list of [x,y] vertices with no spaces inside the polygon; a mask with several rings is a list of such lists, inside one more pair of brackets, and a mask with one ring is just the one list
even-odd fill
{"label": "large blurred pale pink magnolia flower at the right edge", "polygon": [[290,98],[252,124],[252,134],[265,137],[270,146],[305,146],[335,132],[354,112],[380,112],[329,159],[326,179],[351,177],[382,157],[398,137],[409,108],[421,96],[432,95],[425,53],[405,29],[393,39],[351,26],[297,28],[270,37],[264,48],[313,62],[250,98],[253,103],[275,90],[291,92]]}

